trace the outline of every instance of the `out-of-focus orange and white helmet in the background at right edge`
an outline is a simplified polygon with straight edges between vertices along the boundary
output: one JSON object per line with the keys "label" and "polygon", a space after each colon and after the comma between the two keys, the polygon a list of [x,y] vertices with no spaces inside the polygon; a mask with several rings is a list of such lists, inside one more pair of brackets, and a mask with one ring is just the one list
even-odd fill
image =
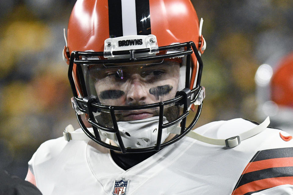
{"label": "out-of-focus orange and white helmet in the background at right edge", "polygon": [[259,66],[255,82],[260,118],[269,116],[273,126],[293,133],[293,52]]}

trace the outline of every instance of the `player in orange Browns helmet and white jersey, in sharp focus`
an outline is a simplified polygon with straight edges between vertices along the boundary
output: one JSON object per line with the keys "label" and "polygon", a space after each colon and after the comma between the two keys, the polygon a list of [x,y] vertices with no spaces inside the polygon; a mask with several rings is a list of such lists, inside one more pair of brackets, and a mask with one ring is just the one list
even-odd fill
{"label": "player in orange Browns helmet and white jersey, in sharp focus", "polygon": [[191,130],[202,22],[189,0],[78,0],[63,58],[81,129],[43,143],[26,179],[44,195],[291,194],[292,137],[268,118]]}

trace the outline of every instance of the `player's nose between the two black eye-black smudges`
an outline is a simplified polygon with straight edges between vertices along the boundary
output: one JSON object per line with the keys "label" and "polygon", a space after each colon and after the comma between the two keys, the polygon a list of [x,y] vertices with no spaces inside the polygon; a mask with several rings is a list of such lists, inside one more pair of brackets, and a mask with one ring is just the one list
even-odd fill
{"label": "player's nose between the two black eye-black smudges", "polygon": [[139,74],[133,74],[131,76],[131,82],[129,83],[127,102],[139,104],[141,101],[147,99],[147,89],[143,85],[143,81],[140,79]]}

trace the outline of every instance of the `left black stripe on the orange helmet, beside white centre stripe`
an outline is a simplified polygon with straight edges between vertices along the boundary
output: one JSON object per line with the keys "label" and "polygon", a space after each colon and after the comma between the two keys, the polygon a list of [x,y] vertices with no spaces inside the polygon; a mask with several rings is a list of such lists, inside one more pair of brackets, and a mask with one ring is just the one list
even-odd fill
{"label": "left black stripe on the orange helmet, beside white centre stripe", "polygon": [[108,0],[109,37],[122,37],[122,6],[121,0]]}

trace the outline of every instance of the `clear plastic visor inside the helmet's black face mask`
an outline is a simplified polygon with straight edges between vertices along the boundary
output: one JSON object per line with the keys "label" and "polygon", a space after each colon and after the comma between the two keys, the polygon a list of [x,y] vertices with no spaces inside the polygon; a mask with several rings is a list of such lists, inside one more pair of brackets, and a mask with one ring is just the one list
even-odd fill
{"label": "clear plastic visor inside the helmet's black face mask", "polygon": [[[98,97],[100,104],[147,105],[175,98],[176,92],[185,87],[186,56],[134,63],[83,65],[83,71],[88,95]],[[158,109],[150,108],[145,112]],[[141,110],[115,111],[124,115],[137,112]]]}

